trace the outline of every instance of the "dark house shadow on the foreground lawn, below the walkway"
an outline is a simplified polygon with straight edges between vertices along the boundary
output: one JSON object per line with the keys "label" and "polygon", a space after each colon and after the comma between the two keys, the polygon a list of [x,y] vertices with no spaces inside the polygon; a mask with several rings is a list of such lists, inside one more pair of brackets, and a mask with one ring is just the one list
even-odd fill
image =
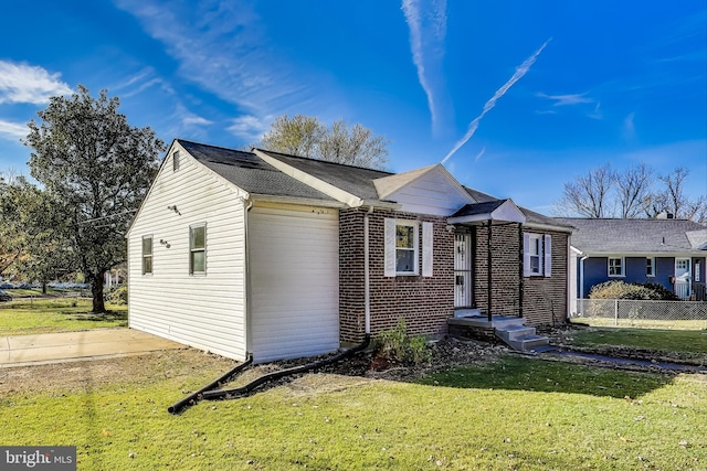
{"label": "dark house shadow on the foreground lawn, below the walkway", "polygon": [[540,393],[588,394],[636,398],[671,383],[667,374],[640,373],[597,366],[502,356],[483,365],[458,366],[434,373],[416,383],[423,385],[509,389]]}

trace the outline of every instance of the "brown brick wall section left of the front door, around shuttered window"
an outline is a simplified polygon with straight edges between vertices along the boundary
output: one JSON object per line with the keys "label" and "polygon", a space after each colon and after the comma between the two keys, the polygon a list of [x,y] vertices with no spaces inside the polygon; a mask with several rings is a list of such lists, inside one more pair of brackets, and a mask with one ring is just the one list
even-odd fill
{"label": "brown brick wall section left of the front door, around shuttered window", "polygon": [[[339,315],[342,342],[359,342],[365,333],[365,210],[339,212]],[[386,217],[433,223],[432,277],[383,276]],[[377,210],[369,215],[369,247],[371,333],[395,327],[401,318],[405,320],[410,334],[446,333],[446,319],[454,311],[454,233],[446,229],[446,218]],[[421,240],[419,255],[422,267]]]}

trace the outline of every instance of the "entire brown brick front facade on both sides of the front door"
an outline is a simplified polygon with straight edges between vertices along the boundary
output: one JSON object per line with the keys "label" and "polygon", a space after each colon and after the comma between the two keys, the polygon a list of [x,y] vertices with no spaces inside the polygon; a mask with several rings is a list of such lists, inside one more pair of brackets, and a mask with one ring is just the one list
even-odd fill
{"label": "entire brown brick front facade on both sides of the front door", "polygon": [[[366,330],[363,221],[361,208],[339,212],[339,328],[341,342],[360,342]],[[394,217],[431,222],[434,227],[433,276],[384,274],[384,220]],[[471,226],[473,302],[489,309],[487,225]],[[523,277],[523,231],[519,224],[490,227],[490,310],[494,315],[523,315],[527,323],[562,322],[567,312],[568,235],[552,236],[552,276]],[[527,229],[529,231],[529,229]],[[537,231],[534,231],[537,232]],[[404,319],[411,334],[441,335],[454,314],[454,231],[445,217],[376,210],[369,215],[371,334],[395,327]],[[422,242],[420,240],[420,258]],[[422,260],[420,259],[420,266]],[[422,272],[422,270],[420,270]]]}

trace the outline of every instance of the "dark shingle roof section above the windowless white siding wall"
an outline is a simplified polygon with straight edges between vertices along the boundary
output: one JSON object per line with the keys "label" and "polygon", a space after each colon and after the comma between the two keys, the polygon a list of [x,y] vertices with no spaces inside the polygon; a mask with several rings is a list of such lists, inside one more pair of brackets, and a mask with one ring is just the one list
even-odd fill
{"label": "dark shingle roof section above the windowless white siding wall", "polygon": [[253,194],[335,201],[281,172],[252,152],[177,140],[194,159],[234,185]]}

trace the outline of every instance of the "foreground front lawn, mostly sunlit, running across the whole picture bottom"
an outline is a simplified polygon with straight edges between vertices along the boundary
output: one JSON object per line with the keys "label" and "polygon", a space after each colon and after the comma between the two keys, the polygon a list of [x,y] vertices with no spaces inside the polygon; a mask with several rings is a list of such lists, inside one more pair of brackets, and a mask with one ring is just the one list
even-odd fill
{"label": "foreground front lawn, mostly sunlit, running across the whole picture bottom", "polygon": [[75,445],[81,470],[707,468],[701,375],[505,357],[421,384],[327,376],[344,386],[317,392],[307,375],[170,416],[222,372],[173,374],[181,354],[119,384],[3,395],[0,442]]}

